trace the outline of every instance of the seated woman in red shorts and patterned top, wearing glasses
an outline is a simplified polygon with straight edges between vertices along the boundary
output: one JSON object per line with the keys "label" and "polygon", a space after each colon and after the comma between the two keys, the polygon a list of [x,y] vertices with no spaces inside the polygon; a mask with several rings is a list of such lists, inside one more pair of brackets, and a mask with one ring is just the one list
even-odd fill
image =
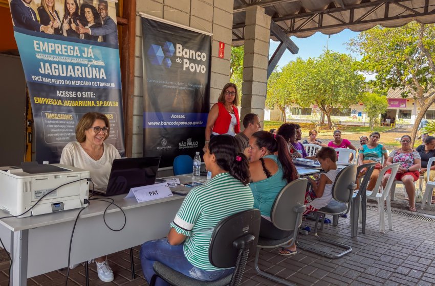
{"label": "seated woman in red shorts and patterned top, wearing glasses", "polygon": [[[400,139],[401,148],[393,150],[388,157],[386,165],[400,163],[399,170],[396,174],[396,180],[400,180],[405,185],[406,194],[408,194],[409,204],[406,207],[409,211],[416,212],[416,187],[414,182],[420,177],[419,169],[421,166],[421,157],[419,152],[412,149],[411,137],[403,135]],[[382,178],[382,186],[385,187],[391,171],[388,170]]]}

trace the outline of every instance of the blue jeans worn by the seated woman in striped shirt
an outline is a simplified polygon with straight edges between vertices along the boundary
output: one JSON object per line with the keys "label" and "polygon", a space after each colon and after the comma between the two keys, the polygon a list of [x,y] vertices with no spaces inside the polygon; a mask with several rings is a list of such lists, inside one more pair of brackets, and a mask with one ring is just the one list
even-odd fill
{"label": "blue jeans worn by the seated woman in striped shirt", "polygon": [[[233,272],[231,269],[207,271],[193,266],[184,256],[183,244],[170,245],[167,238],[144,243],[140,249],[140,261],[142,264],[142,271],[148,283],[151,277],[155,274],[153,269],[154,261],[172,268],[188,277],[202,280],[214,281],[230,275]],[[156,286],[169,285],[160,277],[156,280]]]}

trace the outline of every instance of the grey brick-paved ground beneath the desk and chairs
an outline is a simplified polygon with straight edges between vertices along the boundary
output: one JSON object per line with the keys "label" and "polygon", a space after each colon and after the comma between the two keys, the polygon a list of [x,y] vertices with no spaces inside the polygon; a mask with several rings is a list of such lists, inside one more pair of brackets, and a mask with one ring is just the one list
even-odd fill
{"label": "grey brick-paved ground beneath the desk and chairs", "polygon": [[[417,213],[405,211],[403,189],[398,188],[393,205],[393,230],[379,232],[376,207],[367,211],[365,234],[351,238],[349,219],[340,218],[338,227],[325,225],[320,235],[349,244],[353,252],[339,259],[329,259],[300,251],[292,257],[277,255],[277,249],[260,253],[260,268],[297,285],[434,285],[435,284],[435,206]],[[420,205],[417,204],[419,208]],[[407,217],[410,216],[410,217]],[[387,221],[386,221],[387,222]],[[314,222],[304,224],[313,226]],[[361,228],[359,229],[361,231]],[[301,235],[301,243],[315,244],[314,237]],[[95,264],[90,266],[90,285],[146,285],[139,260],[139,247],[134,249],[137,278],[132,280],[128,251],[108,255],[115,272],[113,283],[103,283],[97,277]],[[8,262],[0,264],[0,285],[8,284]],[[28,285],[64,285],[66,271],[54,271],[28,279]],[[84,268],[72,270],[68,285],[84,285]],[[245,271],[243,285],[277,285],[257,276],[251,259]]]}

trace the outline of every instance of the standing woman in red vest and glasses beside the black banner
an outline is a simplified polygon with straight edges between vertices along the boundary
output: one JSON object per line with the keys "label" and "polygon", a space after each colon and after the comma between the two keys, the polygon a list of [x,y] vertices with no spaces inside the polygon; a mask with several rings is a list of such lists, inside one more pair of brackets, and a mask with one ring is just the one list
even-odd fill
{"label": "standing woman in red vest and glasses beside the black banner", "polygon": [[205,152],[210,138],[215,135],[228,134],[235,136],[240,132],[240,118],[238,116],[238,94],[234,83],[227,83],[222,88],[221,95],[208,113],[205,127]]}

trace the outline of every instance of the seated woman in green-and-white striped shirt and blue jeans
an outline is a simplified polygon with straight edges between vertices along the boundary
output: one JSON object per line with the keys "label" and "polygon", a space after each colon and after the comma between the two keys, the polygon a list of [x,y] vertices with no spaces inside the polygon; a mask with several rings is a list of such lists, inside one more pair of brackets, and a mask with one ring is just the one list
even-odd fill
{"label": "seated woman in green-and-white striped shirt and blue jeans", "polygon": [[[140,259],[148,283],[155,274],[154,261],[202,281],[221,279],[233,271],[211,265],[208,248],[219,221],[253,208],[254,198],[248,186],[248,160],[243,153],[238,153],[237,139],[218,135],[206,146],[204,162],[212,179],[190,190],[170,224],[166,238],[142,245]],[[156,285],[168,283],[158,277]]]}

